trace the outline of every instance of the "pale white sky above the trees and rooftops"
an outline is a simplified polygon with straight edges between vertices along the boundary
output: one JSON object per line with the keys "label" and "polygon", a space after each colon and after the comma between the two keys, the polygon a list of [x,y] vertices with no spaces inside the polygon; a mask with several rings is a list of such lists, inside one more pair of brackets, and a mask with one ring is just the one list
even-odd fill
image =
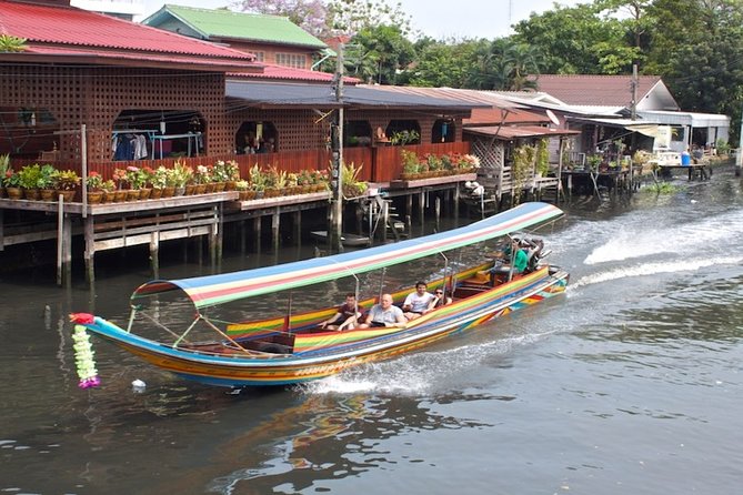
{"label": "pale white sky above the trees and rooftops", "polygon": [[[553,4],[573,7],[588,0],[396,0],[410,14],[413,29],[435,39],[486,38],[511,34],[510,26],[528,19],[531,12],[551,10]],[[395,0],[388,0],[394,4]],[[219,8],[229,0],[143,0],[144,16],[158,11],[163,3]]]}

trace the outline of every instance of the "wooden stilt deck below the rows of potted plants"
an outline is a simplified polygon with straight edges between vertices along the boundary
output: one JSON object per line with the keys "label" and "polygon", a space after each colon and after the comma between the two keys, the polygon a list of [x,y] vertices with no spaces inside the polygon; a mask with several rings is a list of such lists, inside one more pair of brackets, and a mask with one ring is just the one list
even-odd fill
{"label": "wooden stilt deck below the rows of potted plants", "polygon": [[[400,200],[410,226],[414,203],[421,223],[425,220],[426,208],[433,209],[439,219],[442,198],[456,214],[460,184],[474,178],[475,174],[461,174],[404,184],[394,183],[396,181],[372,183],[371,195],[353,199],[350,203],[355,202],[361,206],[363,202],[369,204]],[[435,195],[434,204],[429,203],[432,193]],[[418,201],[414,202],[415,198]],[[62,202],[61,198],[53,202],[0,199],[0,256],[7,246],[56,240],[57,282],[62,285],[71,279],[72,260],[76,257],[72,239],[82,236],[86,276],[92,283],[96,279],[96,253],[149,245],[151,269],[157,277],[161,242],[205,236],[211,262],[217,263],[222,256],[225,224],[235,224],[243,250],[250,241],[255,251],[260,250],[262,231],[269,228],[271,245],[275,250],[280,244],[282,215],[290,215],[293,238],[300,239],[302,212],[312,211],[313,220],[317,221],[315,212],[322,211],[324,219],[329,204],[330,192],[324,191],[250,201],[239,201],[239,193],[230,191],[87,206],[78,202]],[[389,210],[381,210],[389,215]],[[10,221],[11,212],[14,213],[13,221]]]}

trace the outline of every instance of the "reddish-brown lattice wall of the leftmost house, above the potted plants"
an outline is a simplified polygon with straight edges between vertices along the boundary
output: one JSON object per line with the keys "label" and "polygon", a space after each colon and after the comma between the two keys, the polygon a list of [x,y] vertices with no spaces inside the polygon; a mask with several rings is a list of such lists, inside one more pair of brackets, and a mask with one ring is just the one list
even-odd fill
{"label": "reddish-brown lattice wall of the leftmost house, above the potted plants", "polygon": [[230,152],[224,75],[135,68],[0,64],[0,107],[48,109],[57,120],[61,160],[80,159],[87,125],[88,160],[108,161],[111,130],[130,109],[192,110],[204,119],[209,154]]}

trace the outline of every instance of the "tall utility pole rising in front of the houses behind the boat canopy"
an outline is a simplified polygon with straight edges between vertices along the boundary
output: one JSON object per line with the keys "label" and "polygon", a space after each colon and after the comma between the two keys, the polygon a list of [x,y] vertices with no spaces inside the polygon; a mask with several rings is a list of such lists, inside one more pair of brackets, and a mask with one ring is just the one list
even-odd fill
{"label": "tall utility pole rising in front of the houses behind the boat canopy", "polygon": [[343,245],[343,43],[338,44],[338,63],[335,68],[335,101],[339,103],[330,131],[330,145],[333,168],[330,178],[332,199],[330,204],[330,225],[328,229],[328,248],[341,252]]}

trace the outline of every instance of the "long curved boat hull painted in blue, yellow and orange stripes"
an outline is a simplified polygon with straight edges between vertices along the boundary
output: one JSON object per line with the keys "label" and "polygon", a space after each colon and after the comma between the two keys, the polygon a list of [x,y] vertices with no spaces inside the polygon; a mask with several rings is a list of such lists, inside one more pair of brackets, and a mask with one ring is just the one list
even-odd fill
{"label": "long curved boat hull painted in blue, yellow and orange stripes", "polygon": [[544,267],[508,284],[482,291],[411,322],[406,329],[353,345],[287,355],[199,353],[164,345],[125,332],[96,317],[90,332],[180,377],[209,385],[241,387],[308,382],[364,363],[389,360],[481,325],[494,317],[536,304],[564,292],[569,275]]}

